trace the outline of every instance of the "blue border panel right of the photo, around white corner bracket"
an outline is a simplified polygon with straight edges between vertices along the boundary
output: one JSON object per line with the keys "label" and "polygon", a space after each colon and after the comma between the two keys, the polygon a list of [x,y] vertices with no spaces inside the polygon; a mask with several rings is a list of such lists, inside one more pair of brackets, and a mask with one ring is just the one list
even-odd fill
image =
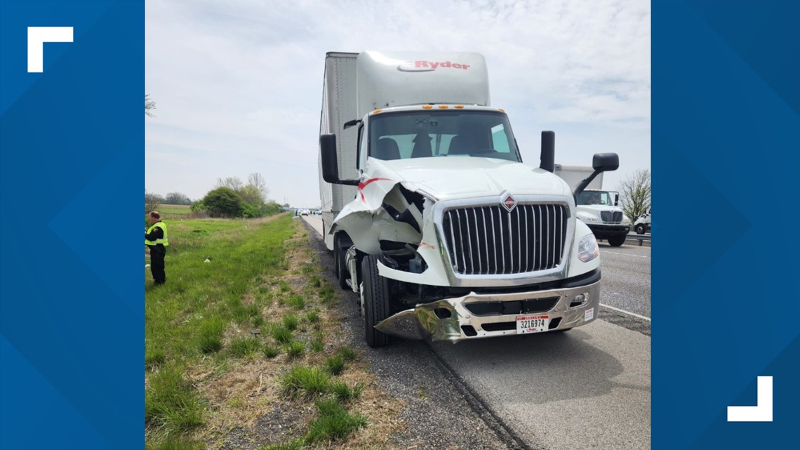
{"label": "blue border panel right of the photo, around white corner bracket", "polygon": [[[800,2],[656,1],[652,448],[800,448]],[[774,421],[729,423],[773,376]]]}

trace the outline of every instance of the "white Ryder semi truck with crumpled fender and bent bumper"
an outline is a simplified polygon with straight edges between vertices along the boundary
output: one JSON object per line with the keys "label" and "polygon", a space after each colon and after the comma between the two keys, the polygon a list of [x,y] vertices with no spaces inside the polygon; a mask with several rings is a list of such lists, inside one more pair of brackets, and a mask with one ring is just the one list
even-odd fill
{"label": "white Ryder semi truck with crumpled fender and bent bumper", "polygon": [[[329,53],[322,86],[325,243],[359,294],[367,344],[597,318],[598,244],[574,200],[586,185],[553,174],[552,131],[539,167],[522,164],[481,54]],[[618,165],[594,155],[590,178]]]}

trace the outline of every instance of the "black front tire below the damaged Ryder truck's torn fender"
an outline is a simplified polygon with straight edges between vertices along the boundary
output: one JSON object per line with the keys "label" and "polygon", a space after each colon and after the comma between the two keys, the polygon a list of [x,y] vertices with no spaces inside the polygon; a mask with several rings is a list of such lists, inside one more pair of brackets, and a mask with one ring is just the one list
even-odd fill
{"label": "black front tire below the damaged Ryder truck's torn fender", "polygon": [[370,347],[386,347],[391,336],[375,329],[375,325],[389,317],[389,289],[386,279],[378,275],[378,257],[366,255],[361,262],[364,302],[364,340]]}

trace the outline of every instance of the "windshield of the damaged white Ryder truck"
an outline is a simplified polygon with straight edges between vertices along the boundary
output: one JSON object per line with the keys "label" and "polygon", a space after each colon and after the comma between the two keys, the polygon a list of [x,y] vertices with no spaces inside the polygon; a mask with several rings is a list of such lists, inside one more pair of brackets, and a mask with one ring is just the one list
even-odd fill
{"label": "windshield of the damaged white Ryder truck", "polygon": [[369,155],[376,159],[437,156],[521,162],[506,115],[492,111],[422,110],[370,118]]}

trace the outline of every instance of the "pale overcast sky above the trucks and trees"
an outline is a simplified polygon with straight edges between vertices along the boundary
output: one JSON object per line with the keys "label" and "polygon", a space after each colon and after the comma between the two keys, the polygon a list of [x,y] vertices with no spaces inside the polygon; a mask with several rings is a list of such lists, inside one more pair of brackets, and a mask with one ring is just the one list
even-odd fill
{"label": "pale overcast sky above the trucks and trees", "polygon": [[619,154],[608,189],[650,169],[650,2],[147,0],[147,191],[258,172],[270,199],[318,206],[325,54],[362,50],[482,53],[526,163],[552,130],[556,163]]}

